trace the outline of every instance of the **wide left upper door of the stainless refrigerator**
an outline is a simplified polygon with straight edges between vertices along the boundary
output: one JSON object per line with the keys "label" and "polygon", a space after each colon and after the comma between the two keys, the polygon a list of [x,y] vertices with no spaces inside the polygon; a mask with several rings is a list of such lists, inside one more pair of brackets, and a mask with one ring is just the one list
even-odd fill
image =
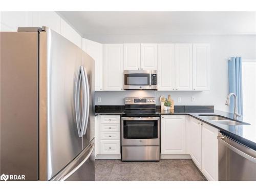
{"label": "wide left upper door of the stainless refrigerator", "polygon": [[82,51],[58,33],[47,31],[47,180],[82,150],[75,115],[77,72]]}

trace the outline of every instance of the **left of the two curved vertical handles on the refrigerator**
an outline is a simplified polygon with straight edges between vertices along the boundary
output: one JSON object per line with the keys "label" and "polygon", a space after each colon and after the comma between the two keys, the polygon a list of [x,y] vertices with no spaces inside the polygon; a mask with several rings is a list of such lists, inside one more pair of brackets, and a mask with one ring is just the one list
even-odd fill
{"label": "left of the two curved vertical handles on the refrigerator", "polygon": [[80,114],[80,87],[81,87],[81,70],[79,68],[77,73],[75,85],[75,116],[78,136],[81,135],[81,114]]}

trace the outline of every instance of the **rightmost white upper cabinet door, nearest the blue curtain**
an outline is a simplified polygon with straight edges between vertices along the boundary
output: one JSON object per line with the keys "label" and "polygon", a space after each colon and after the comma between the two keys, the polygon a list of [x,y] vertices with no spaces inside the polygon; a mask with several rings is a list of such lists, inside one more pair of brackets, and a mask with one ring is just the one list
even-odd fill
{"label": "rightmost white upper cabinet door, nearest the blue curtain", "polygon": [[193,90],[207,91],[209,82],[209,44],[193,44]]}

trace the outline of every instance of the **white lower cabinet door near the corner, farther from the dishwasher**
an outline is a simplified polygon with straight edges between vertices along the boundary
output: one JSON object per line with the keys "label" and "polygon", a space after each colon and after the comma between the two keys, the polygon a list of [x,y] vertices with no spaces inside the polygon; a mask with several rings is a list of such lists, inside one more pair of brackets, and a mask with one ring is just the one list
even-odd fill
{"label": "white lower cabinet door near the corner, farther from the dishwasher", "polygon": [[187,129],[189,130],[189,152],[194,163],[201,170],[202,141],[201,141],[201,121],[189,118]]}

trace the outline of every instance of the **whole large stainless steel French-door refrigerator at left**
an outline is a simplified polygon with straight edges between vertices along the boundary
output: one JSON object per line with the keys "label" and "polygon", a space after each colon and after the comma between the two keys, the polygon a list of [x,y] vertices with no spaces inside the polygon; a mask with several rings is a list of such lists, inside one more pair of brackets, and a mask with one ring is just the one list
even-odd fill
{"label": "whole large stainless steel French-door refrigerator at left", "polygon": [[93,181],[94,60],[47,27],[0,44],[0,175]]}

